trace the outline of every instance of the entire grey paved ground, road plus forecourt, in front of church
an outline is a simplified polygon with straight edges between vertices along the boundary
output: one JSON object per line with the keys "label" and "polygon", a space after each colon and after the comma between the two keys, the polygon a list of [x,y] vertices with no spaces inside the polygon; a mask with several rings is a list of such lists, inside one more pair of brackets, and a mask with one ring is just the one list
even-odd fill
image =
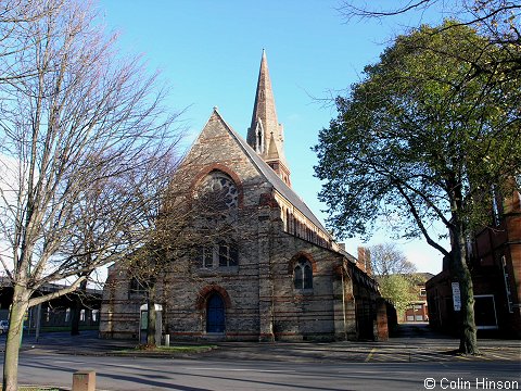
{"label": "entire grey paved ground, road plus forecourt, in front of church", "polygon": [[385,342],[225,342],[161,358],[115,356],[136,341],[100,340],[96,332],[26,336],[20,383],[71,389],[75,371],[93,369],[98,391],[521,390],[520,340],[480,340],[483,355],[466,357],[450,354],[457,339],[427,325],[402,329]]}

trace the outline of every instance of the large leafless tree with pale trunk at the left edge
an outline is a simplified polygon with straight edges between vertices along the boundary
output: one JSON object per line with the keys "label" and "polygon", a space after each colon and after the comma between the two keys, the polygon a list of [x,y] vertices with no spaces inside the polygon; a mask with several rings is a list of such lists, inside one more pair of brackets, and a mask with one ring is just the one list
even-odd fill
{"label": "large leafless tree with pale trunk at the left edge", "polygon": [[[25,2],[10,4],[16,14]],[[88,4],[31,4],[38,17],[0,25],[0,37],[20,41],[0,62],[13,75],[0,80],[0,262],[14,288],[3,390],[17,389],[27,308],[149,242],[155,194],[143,188],[179,137],[157,74],[116,55]],[[61,280],[68,288],[31,297]]]}

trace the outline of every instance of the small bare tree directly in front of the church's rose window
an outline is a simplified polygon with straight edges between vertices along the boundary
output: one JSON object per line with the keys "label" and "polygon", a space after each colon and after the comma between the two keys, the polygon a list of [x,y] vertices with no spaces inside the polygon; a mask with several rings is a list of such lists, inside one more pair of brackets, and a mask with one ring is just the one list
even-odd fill
{"label": "small bare tree directly in front of the church's rose window", "polygon": [[[147,349],[160,343],[155,338],[155,304],[164,301],[167,276],[186,276],[187,283],[200,281],[198,274],[191,273],[192,267],[206,266],[214,252],[219,264],[237,258],[238,242],[246,239],[244,227],[238,225],[238,211],[232,207],[236,200],[226,182],[223,187],[223,178],[194,179],[204,160],[185,160],[176,173],[158,167],[155,176],[166,180],[155,190],[158,197],[149,215],[149,226],[153,227],[150,241],[119,262],[119,270],[127,278],[111,282],[126,285],[116,289],[128,289],[131,279],[136,291],[143,295],[148,306]],[[224,242],[223,238],[229,240]]]}

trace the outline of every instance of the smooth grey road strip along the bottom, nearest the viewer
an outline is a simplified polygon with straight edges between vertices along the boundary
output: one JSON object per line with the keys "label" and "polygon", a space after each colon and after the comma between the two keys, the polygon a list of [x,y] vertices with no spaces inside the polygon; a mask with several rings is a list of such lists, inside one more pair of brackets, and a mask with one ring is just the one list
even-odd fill
{"label": "smooth grey road strip along the bottom, nearest the viewer", "polygon": [[521,389],[519,362],[283,363],[67,354],[21,358],[21,383],[69,388],[74,371],[93,369],[97,390],[482,390],[497,389],[499,381],[504,389]]}

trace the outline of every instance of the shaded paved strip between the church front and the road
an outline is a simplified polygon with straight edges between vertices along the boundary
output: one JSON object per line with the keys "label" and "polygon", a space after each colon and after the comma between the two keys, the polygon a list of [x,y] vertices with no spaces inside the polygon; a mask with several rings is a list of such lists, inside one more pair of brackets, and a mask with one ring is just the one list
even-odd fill
{"label": "shaded paved strip between the church front and the road", "polygon": [[[1,342],[0,342],[1,343]],[[215,349],[201,353],[176,353],[183,358],[211,357],[215,360],[266,360],[292,363],[313,362],[445,362],[445,361],[507,361],[521,363],[521,340],[479,339],[481,355],[456,354],[459,340],[440,335],[428,324],[399,325],[398,333],[387,341],[336,342],[200,342],[214,344]],[[170,345],[194,344],[170,341]],[[66,332],[49,332],[36,341],[24,336],[22,354],[71,355],[128,355],[156,356],[149,352],[136,352],[136,340],[110,340],[98,338],[97,331],[82,331],[79,336]],[[122,353],[123,350],[131,352]],[[164,354],[161,355],[165,357]]]}

